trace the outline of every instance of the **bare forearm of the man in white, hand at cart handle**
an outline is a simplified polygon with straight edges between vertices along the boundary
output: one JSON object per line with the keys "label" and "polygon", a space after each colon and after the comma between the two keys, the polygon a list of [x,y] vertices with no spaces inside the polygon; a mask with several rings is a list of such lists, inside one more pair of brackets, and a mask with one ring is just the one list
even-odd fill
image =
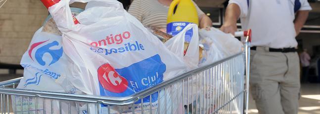
{"label": "bare forearm of the man in white, hand at cart handle", "polygon": [[236,22],[240,13],[239,5],[235,3],[229,4],[226,9],[225,23],[221,26],[220,30],[234,35],[234,32],[237,30]]}

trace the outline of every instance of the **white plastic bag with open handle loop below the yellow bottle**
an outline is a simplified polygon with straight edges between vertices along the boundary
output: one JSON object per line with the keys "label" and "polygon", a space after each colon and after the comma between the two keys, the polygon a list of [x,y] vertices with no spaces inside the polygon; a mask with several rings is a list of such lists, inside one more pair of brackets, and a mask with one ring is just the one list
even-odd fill
{"label": "white plastic bag with open handle loop below the yellow bottle", "polygon": [[[193,34],[186,53],[183,55],[185,33],[190,29],[192,29]],[[179,58],[183,59],[189,70],[198,68],[199,35],[198,26],[196,24],[188,24],[178,35],[166,41],[165,45],[170,51],[175,53]]]}

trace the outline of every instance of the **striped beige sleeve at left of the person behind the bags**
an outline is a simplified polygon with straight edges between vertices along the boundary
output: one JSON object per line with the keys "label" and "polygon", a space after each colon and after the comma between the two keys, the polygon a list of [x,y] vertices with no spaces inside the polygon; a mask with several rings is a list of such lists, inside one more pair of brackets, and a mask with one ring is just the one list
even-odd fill
{"label": "striped beige sleeve at left of the person behind the bags", "polygon": [[140,22],[142,22],[142,7],[141,7],[141,0],[134,0],[129,9],[128,13],[136,17]]}

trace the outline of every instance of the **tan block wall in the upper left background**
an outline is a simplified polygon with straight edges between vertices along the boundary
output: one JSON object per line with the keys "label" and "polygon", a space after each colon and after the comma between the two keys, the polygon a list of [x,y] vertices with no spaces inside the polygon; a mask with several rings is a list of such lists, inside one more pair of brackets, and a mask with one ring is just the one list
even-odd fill
{"label": "tan block wall in the upper left background", "polygon": [[0,8],[0,62],[20,63],[47,14],[40,0],[7,0]]}

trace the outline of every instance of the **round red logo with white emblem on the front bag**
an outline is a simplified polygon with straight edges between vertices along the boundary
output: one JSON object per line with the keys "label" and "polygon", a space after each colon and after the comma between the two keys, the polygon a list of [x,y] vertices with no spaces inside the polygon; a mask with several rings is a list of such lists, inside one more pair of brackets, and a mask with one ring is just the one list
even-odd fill
{"label": "round red logo with white emblem on the front bag", "polygon": [[127,79],[120,76],[108,63],[98,68],[98,79],[104,89],[114,93],[122,93],[128,87]]}

